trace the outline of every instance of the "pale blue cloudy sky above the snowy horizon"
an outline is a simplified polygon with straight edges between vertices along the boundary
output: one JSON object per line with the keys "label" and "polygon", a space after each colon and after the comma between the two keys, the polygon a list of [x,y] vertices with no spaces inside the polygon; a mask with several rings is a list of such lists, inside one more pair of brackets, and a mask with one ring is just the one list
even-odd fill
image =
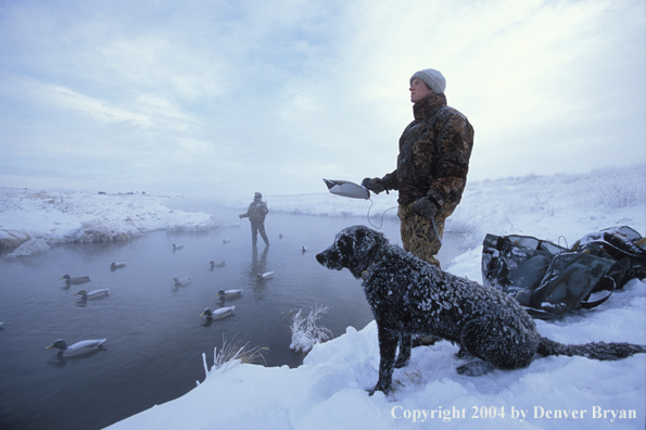
{"label": "pale blue cloudy sky above the snowy horizon", "polygon": [[644,0],[0,1],[0,187],[235,197],[395,168],[440,69],[469,178],[646,161]]}

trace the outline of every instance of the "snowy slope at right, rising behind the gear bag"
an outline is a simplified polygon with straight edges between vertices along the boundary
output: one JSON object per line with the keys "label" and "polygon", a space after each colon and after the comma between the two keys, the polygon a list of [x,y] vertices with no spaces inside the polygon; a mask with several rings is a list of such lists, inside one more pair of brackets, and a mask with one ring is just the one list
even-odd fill
{"label": "snowy slope at right, rising behind the gear bag", "polygon": [[467,185],[447,229],[468,232],[473,245],[481,244],[487,232],[534,236],[561,244],[621,225],[644,235],[645,202],[644,164],[586,175],[485,180]]}

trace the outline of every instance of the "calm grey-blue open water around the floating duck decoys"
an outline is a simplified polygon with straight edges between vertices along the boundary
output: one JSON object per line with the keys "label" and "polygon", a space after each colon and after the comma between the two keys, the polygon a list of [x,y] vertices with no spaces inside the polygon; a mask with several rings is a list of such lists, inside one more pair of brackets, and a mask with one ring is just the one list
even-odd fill
{"label": "calm grey-blue open water around the floating duck decoys", "polygon": [[[214,347],[225,339],[268,347],[263,365],[299,366],[303,355],[289,349],[289,325],[301,308],[306,315],[316,305],[328,306],[318,325],[333,337],[372,320],[360,282],[315,258],[342,228],[367,224],[366,218],[271,212],[265,223],[270,246],[258,238],[253,250],[249,222],[238,220],[238,212],[185,206],[240,226],[156,231],[128,242],[58,245],[0,260],[0,429],[104,428],[186,394],[204,380],[202,353],[213,365]],[[401,243],[397,220],[385,219],[381,231]],[[447,233],[444,242],[440,260],[446,265],[464,250],[457,235]],[[183,249],[174,252],[173,243]],[[212,260],[225,266],[211,269]],[[126,267],[111,270],[112,262]],[[267,271],[273,278],[256,279]],[[60,280],[65,274],[89,275],[91,281],[67,287]],[[192,282],[176,288],[174,277]],[[110,288],[110,294],[87,302],[74,295],[100,288]],[[225,304],[236,306],[235,316],[199,317],[205,307],[219,306],[218,290],[239,288],[242,296]],[[68,344],[107,342],[94,353],[60,359],[56,350],[45,350],[60,338]]]}

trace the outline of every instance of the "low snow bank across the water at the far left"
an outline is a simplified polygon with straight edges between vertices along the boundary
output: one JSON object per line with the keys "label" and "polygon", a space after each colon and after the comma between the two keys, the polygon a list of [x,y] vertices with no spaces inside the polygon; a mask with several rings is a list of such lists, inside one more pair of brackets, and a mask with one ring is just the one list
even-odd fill
{"label": "low snow bank across the water at the far left", "polygon": [[54,243],[128,240],[153,230],[203,231],[221,226],[204,213],[172,211],[166,198],[0,188],[0,252],[12,256]]}

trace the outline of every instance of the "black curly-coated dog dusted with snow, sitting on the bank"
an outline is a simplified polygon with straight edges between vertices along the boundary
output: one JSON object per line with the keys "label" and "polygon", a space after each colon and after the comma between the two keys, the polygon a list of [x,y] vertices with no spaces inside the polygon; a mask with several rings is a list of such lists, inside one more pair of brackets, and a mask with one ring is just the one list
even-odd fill
{"label": "black curly-coated dog dusted with snow, sitting on the bank", "polygon": [[512,298],[442,271],[365,226],[342,230],[316,260],[330,269],[345,267],[364,280],[379,330],[379,381],[370,393],[390,390],[394,367],[404,367],[410,357],[411,334],[446,339],[460,346],[458,356],[484,361],[457,369],[469,376],[527,367],[536,353],[619,359],[646,352],[631,343],[566,345],[543,338]]}

